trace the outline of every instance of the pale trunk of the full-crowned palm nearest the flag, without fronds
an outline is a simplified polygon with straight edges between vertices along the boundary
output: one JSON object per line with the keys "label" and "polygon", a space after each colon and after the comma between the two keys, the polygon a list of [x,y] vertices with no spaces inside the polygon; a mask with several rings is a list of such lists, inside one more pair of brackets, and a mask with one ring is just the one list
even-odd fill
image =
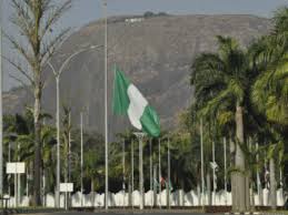
{"label": "pale trunk of the full-crowned palm nearest the flag, without fronds", "polygon": [[236,108],[236,157],[235,166],[238,172],[235,172],[235,195],[236,201],[232,203],[232,211],[236,212],[246,212],[250,208],[249,198],[249,182],[245,175],[245,154],[239,144],[244,143],[244,117],[242,117],[242,108],[237,104]]}

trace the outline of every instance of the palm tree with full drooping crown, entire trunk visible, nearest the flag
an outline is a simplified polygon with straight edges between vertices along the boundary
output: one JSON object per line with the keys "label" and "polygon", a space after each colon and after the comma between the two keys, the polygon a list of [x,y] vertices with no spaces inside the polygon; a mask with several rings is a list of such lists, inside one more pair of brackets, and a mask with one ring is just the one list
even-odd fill
{"label": "palm tree with full drooping crown, entire trunk visible, nearest the flag", "polygon": [[217,111],[230,106],[234,110],[237,143],[235,165],[238,172],[232,176],[232,183],[237,184],[232,190],[232,209],[244,212],[249,209],[249,185],[244,174],[245,154],[240,145],[245,142],[245,102],[254,74],[249,73],[246,51],[234,39],[217,37],[217,53],[202,53],[193,61],[191,84],[202,109]]}

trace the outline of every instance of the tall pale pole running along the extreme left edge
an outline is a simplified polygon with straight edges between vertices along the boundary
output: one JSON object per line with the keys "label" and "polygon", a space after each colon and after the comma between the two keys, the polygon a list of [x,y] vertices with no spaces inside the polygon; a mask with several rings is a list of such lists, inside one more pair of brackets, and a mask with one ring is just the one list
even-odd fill
{"label": "tall pale pole running along the extreme left edge", "polygon": [[0,2],[0,196],[3,195],[3,112],[2,112],[2,1]]}

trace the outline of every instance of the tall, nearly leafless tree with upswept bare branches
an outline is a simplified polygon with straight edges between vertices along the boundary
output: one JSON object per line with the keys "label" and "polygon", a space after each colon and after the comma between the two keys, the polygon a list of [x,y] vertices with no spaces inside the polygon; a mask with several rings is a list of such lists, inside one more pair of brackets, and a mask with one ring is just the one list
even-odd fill
{"label": "tall, nearly leafless tree with upswept bare branches", "polygon": [[[43,68],[53,54],[60,42],[68,33],[68,29],[58,34],[52,33],[53,25],[61,16],[70,8],[71,0],[63,0],[56,4],[53,0],[11,0],[14,9],[11,22],[18,28],[21,38],[6,35],[31,72],[12,60],[9,62],[28,80],[32,88],[33,125],[34,125],[34,167],[33,167],[33,204],[41,205],[40,199],[40,168],[41,168],[41,96],[43,89]],[[21,43],[20,39],[26,39]]]}

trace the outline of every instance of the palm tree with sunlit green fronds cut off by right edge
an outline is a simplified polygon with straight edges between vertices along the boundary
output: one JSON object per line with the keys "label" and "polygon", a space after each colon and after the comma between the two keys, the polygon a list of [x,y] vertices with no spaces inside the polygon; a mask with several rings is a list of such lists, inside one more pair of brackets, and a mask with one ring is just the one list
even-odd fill
{"label": "palm tree with sunlit green fronds cut off by right edge", "polygon": [[271,207],[276,209],[275,158],[280,152],[282,136],[288,126],[288,8],[280,8],[274,17],[275,29],[264,37],[256,47],[257,60],[264,64],[262,72],[252,86],[251,100],[266,119],[270,144],[270,196]]}

